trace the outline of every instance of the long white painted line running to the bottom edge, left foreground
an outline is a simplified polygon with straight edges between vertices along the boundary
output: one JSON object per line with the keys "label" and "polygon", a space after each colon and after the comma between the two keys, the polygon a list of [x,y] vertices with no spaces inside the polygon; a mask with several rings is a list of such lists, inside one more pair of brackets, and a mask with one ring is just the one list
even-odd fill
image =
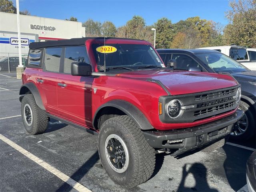
{"label": "long white painted line running to the bottom edge, left foreground", "polygon": [[6,144],[10,145],[12,148],[16,149],[18,152],[22,153],[24,156],[30,158],[32,161],[36,162],[38,165],[42,166],[52,174],[56,175],[58,178],[60,178],[62,181],[66,182],[70,186],[72,186],[74,189],[80,191],[80,192],[92,192],[85,186],[81,185],[80,183],[76,182],[66,174],[60,172],[58,169],[54,168],[50,164],[44,162],[37,156],[34,156],[32,153],[28,152],[21,146],[17,145],[16,143],[12,142],[10,139],[6,138],[2,134],[0,134],[0,139],[5,142]]}

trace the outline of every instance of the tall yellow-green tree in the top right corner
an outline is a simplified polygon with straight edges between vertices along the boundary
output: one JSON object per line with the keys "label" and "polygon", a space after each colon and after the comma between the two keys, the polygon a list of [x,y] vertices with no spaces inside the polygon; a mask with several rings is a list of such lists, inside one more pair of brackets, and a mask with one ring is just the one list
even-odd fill
{"label": "tall yellow-green tree in the top right corner", "polygon": [[232,0],[226,12],[229,24],[224,29],[226,44],[256,46],[256,0]]}

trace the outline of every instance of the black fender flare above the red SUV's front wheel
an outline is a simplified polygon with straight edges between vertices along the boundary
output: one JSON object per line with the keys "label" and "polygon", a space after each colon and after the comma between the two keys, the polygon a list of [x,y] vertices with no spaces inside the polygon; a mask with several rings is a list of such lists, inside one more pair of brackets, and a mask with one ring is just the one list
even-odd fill
{"label": "black fender flare above the red SUV's front wheel", "polygon": [[98,117],[97,115],[103,108],[106,107],[114,107],[121,110],[126,115],[128,115],[141,130],[154,129],[154,127],[150,124],[146,116],[136,106],[124,100],[112,100],[101,105],[95,112],[92,120],[94,128],[96,128],[95,124]]}

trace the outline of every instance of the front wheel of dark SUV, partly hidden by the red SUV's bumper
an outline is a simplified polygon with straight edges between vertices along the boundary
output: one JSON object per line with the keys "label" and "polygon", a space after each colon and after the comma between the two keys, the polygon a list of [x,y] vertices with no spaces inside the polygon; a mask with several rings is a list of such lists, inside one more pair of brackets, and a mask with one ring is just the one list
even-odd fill
{"label": "front wheel of dark SUV, partly hidden by the red SUV's bumper", "polygon": [[233,140],[247,140],[255,137],[255,114],[252,107],[246,102],[240,101],[239,108],[244,112],[238,121],[238,128],[230,134]]}

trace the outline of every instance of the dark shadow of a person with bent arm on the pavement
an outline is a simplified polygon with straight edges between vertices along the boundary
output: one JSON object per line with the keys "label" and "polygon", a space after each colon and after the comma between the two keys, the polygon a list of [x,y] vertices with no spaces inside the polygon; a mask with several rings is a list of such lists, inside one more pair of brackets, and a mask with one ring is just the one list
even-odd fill
{"label": "dark shadow of a person with bent arm on the pavement", "polygon": [[[194,163],[190,166],[187,171],[189,164],[185,164],[182,170],[182,180],[178,187],[178,192],[194,192],[194,191],[205,191],[205,192],[218,192],[214,188],[210,188],[207,182],[207,169],[201,163]],[[191,173],[194,176],[196,184],[194,187],[186,187],[185,181],[188,174]]]}

